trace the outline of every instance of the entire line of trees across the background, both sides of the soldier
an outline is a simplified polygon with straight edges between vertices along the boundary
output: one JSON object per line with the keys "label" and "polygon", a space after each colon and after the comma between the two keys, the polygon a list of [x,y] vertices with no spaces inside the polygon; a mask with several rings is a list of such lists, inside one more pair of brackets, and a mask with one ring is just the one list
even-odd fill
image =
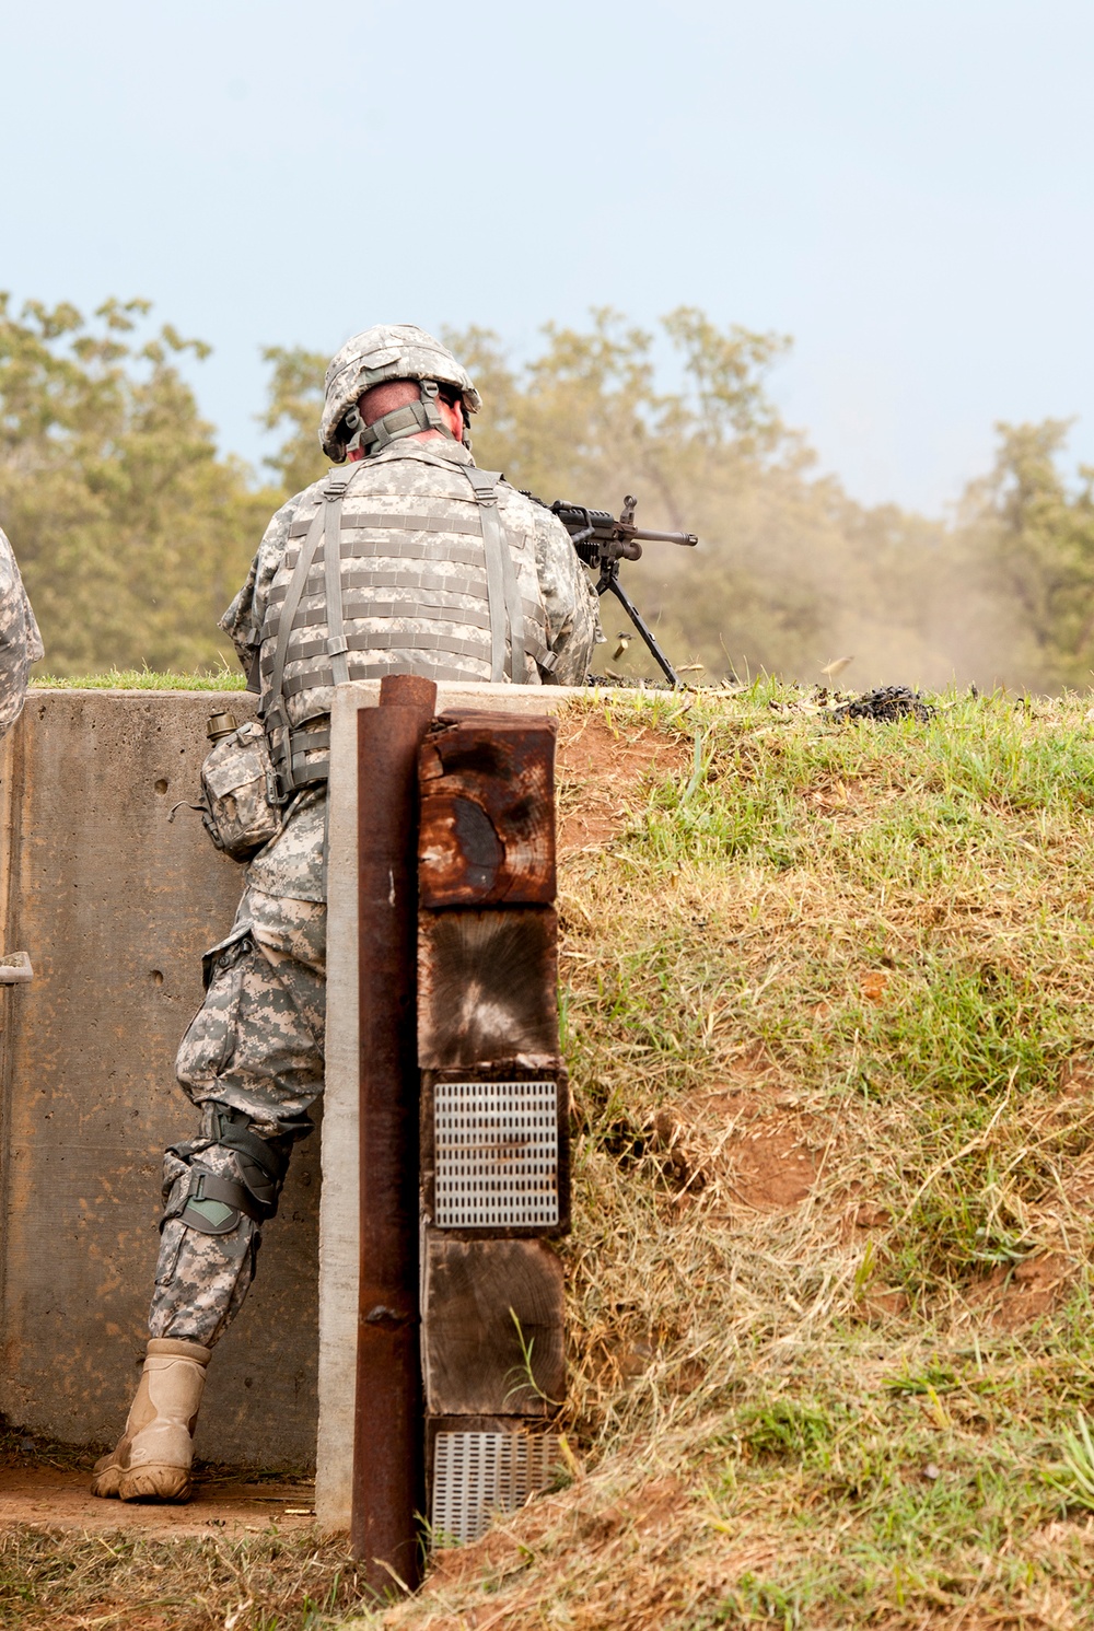
{"label": "entire line of trees across the background, both sides of the soldier", "polygon": [[[230,657],[217,617],[271,511],[326,468],[316,440],[326,357],[271,346],[259,422],[276,437],[259,486],[217,452],[179,362],[207,347],[148,305],[0,297],[0,525],[46,639],[78,675]],[[719,329],[682,307],[655,333],[610,310],[548,325],[517,364],[497,334],[445,336],[484,396],[481,465],[540,497],[618,509],[698,532],[696,551],[652,543],[626,563],[633,595],[678,664],[706,678],[817,678],[854,654],[845,683],[1086,685],[1094,669],[1094,471],[1071,489],[1066,424],[999,426],[995,470],[954,524],[856,504],[817,471],[770,395],[789,341]],[[600,667],[652,674],[615,602]]]}

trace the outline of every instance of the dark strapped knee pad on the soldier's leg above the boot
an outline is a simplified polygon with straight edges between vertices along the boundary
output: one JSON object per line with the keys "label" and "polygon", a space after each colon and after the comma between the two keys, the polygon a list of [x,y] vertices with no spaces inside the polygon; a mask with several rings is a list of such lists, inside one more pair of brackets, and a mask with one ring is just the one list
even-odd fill
{"label": "dark strapped knee pad on the soldier's leg above the boot", "polygon": [[[178,1176],[166,1179],[166,1210],[160,1228],[176,1217],[202,1235],[228,1235],[243,1217],[261,1227],[277,1213],[292,1137],[259,1138],[249,1130],[251,1120],[243,1111],[225,1104],[212,1104],[209,1109],[210,1137],[189,1138],[166,1151],[168,1158],[174,1156],[174,1163],[168,1160],[168,1168],[181,1163],[183,1169],[189,1169],[189,1182],[179,1182],[184,1171],[178,1171]],[[240,1178],[214,1171],[209,1160],[214,1151],[230,1153],[233,1160],[227,1165]],[[205,1161],[201,1160],[202,1155]]]}

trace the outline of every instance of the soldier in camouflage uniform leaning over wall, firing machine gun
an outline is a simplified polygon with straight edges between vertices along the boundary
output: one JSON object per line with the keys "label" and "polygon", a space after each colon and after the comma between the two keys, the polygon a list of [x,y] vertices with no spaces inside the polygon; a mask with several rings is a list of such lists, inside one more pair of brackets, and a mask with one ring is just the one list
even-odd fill
{"label": "soldier in camouflage uniform leaning over wall, firing machine gun", "polygon": [[[370,328],[326,372],[336,465],[271,520],[222,628],[280,796],[178,1055],[202,1111],[165,1155],[148,1357],[96,1496],[186,1501],[205,1367],[243,1306],[262,1225],[323,1090],[326,776],[336,685],[385,674],[584,683],[597,600],[561,522],[471,458],[479,393],[411,325]],[[331,546],[336,541],[339,546]]]}

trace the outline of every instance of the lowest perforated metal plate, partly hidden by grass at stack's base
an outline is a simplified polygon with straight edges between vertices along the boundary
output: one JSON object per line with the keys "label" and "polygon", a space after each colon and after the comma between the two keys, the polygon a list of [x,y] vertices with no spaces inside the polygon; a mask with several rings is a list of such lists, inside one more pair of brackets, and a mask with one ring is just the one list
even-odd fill
{"label": "lowest perforated metal plate, partly hidden by grass at stack's base", "polygon": [[496,1512],[515,1512],[543,1489],[558,1437],[523,1432],[440,1432],[434,1450],[430,1522],[435,1546],[478,1540]]}

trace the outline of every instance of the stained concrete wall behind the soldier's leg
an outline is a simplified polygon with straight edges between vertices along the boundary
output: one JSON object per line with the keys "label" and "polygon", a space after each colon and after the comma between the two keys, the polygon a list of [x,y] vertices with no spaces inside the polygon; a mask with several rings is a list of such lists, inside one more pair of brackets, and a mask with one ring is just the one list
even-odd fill
{"label": "stained concrete wall behind the soldier's leg", "polygon": [[[0,1412],[112,1442],[143,1341],[165,1143],[196,1130],[174,1083],[201,954],[241,868],[194,811],[205,718],[253,698],[33,692],[0,744]],[[316,1434],[318,1137],[302,1145],[259,1277],[210,1367],[197,1453],[307,1466]]]}

